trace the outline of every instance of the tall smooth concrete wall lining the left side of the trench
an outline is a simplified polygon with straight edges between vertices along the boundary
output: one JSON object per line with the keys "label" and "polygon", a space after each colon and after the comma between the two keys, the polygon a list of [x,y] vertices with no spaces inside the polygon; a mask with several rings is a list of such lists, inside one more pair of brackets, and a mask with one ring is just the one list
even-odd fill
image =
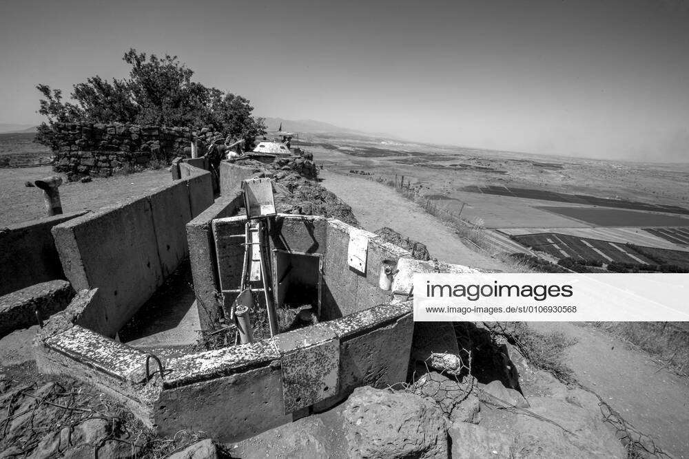
{"label": "tall smooth concrete wall lining the left side of the trench", "polygon": [[210,173],[203,171],[54,226],[72,286],[99,288],[100,332],[114,337],[187,257],[185,224],[212,201]]}

